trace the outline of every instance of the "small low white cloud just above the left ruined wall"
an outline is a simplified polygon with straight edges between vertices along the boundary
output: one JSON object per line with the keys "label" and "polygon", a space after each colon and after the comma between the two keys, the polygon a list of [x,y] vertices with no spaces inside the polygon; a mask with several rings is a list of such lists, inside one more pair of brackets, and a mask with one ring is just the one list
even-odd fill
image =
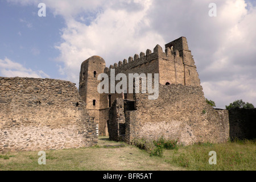
{"label": "small low white cloud just above the left ruined wall", "polygon": [[23,67],[22,64],[15,63],[7,57],[0,59],[0,76],[2,77],[33,77],[33,78],[49,78],[42,70],[32,71],[30,68]]}

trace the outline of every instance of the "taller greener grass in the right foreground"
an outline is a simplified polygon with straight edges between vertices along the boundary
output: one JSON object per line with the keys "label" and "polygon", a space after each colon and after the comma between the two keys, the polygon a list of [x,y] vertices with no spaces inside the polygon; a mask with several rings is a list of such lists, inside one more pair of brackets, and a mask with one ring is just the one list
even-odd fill
{"label": "taller greener grass in the right foreground", "polygon": [[[217,164],[210,165],[210,151],[216,152]],[[164,159],[173,166],[187,170],[255,171],[255,140],[239,140],[221,144],[200,143],[181,146],[179,150],[164,151]]]}

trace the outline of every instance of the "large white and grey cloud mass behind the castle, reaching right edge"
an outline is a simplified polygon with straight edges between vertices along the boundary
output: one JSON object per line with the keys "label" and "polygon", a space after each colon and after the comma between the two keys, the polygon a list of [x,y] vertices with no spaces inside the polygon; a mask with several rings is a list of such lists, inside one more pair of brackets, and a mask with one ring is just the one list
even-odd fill
{"label": "large white and grey cloud mass behind the castle, reaching right edge", "polygon": [[[9,0],[20,3],[18,0]],[[106,64],[188,39],[205,97],[224,107],[242,98],[256,106],[256,9],[243,0],[215,0],[217,17],[209,17],[210,0],[44,1],[65,19],[58,60],[61,74],[78,82],[80,64],[98,55]],[[39,1],[22,1],[31,5]]]}

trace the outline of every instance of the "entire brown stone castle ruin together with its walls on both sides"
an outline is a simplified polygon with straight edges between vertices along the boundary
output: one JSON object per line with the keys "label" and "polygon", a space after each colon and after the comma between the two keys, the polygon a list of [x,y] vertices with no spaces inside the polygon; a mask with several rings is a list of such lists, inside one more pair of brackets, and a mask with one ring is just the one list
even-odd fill
{"label": "entire brown stone castle ruin together with its walls on both sides", "polygon": [[[158,98],[149,100],[151,93],[127,90],[99,93],[98,75],[108,75],[104,79],[109,79],[110,88],[113,69],[114,76],[159,74]],[[192,144],[225,142],[230,133],[255,133],[255,123],[249,132],[245,122],[239,125],[243,118],[255,118],[255,110],[236,119],[236,112],[230,115],[205,102],[185,37],[166,44],[165,51],[157,45],[153,52],[147,49],[109,68],[100,56],[92,56],[81,64],[79,90],[69,81],[0,77],[0,109],[0,152],[93,146],[98,135],[127,143],[164,137]]]}

